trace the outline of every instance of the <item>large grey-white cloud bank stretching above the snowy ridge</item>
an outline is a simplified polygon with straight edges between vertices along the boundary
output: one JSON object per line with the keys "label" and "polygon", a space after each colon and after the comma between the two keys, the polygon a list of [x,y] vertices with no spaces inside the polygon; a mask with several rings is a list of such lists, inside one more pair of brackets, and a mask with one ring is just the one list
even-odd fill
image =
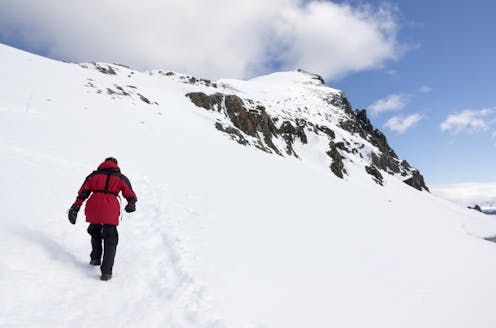
{"label": "large grey-white cloud bank stretching above the snowy ridge", "polygon": [[51,57],[210,78],[380,68],[404,51],[397,30],[394,8],[321,0],[0,2],[2,38]]}

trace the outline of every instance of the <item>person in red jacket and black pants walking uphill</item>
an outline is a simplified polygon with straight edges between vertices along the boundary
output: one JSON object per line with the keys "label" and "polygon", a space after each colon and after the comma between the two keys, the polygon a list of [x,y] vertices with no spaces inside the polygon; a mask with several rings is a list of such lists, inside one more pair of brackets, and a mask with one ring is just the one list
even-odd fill
{"label": "person in red jacket and black pants walking uphill", "polygon": [[[115,252],[119,235],[120,203],[119,193],[127,200],[124,210],[128,213],[136,210],[136,194],[129,179],[121,173],[117,160],[108,157],[84,180],[79,189],[76,201],[68,212],[69,222],[76,223],[77,213],[84,201],[89,197],[86,208],[86,222],[89,222],[88,233],[91,235],[90,264],[100,266],[101,280],[112,278]],[[103,241],[103,249],[102,249]],[[102,261],[103,253],[103,261]]]}

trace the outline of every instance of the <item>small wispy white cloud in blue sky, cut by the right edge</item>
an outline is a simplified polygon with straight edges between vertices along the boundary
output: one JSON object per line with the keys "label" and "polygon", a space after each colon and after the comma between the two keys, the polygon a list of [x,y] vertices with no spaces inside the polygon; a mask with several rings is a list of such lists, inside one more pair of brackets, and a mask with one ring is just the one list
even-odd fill
{"label": "small wispy white cloud in blue sky, cut by the right edge", "polygon": [[476,133],[486,131],[494,122],[496,109],[464,110],[458,114],[449,115],[441,123],[441,131],[457,134],[460,132]]}

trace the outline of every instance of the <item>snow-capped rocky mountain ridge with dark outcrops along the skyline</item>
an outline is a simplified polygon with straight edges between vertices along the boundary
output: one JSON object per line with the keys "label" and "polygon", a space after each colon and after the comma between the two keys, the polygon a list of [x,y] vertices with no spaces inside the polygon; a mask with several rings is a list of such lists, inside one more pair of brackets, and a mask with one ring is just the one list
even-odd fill
{"label": "snow-capped rocky mountain ridge with dark outcrops along the skyline", "polygon": [[[132,78],[136,73],[123,65],[81,66],[116,77]],[[215,112],[215,128],[239,144],[303,160],[306,155],[319,156],[322,165],[341,179],[349,175],[350,166],[358,166],[379,185],[384,184],[383,174],[389,174],[428,191],[420,172],[398,158],[384,134],[372,126],[366,111],[354,111],[342,91],[328,87],[316,74],[298,70],[249,81],[215,82],[161,70],[146,74],[183,84],[189,91],[185,95],[196,106]],[[158,105],[134,85],[97,87],[88,79],[86,86],[114,98],[129,97],[132,102]],[[319,154],[307,154],[305,148]]]}

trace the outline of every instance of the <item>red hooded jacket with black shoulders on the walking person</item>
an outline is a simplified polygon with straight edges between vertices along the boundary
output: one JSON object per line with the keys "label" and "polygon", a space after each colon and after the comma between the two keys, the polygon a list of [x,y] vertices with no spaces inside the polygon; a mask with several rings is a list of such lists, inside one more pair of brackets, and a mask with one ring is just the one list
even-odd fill
{"label": "red hooded jacket with black shoulders on the walking person", "polygon": [[136,194],[128,178],[121,173],[115,162],[107,160],[86,178],[79,189],[75,204],[83,205],[91,195],[84,211],[86,222],[118,225],[121,209],[117,200],[119,192],[122,192],[128,203],[136,203]]}

